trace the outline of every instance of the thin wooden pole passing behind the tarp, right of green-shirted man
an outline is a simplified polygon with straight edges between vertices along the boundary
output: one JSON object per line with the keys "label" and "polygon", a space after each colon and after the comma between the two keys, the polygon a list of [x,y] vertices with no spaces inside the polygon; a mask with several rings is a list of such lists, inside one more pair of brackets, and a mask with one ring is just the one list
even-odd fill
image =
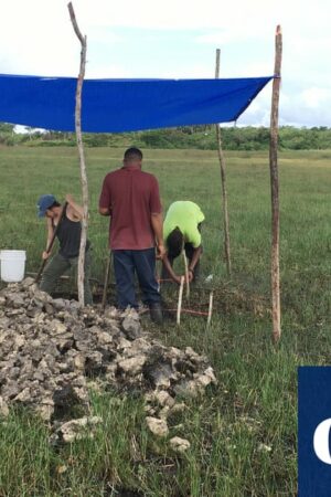
{"label": "thin wooden pole passing behind the tarp, right of green-shirted man", "polygon": [[[220,55],[221,50],[216,50],[216,70],[215,77],[220,77]],[[226,260],[227,275],[231,276],[231,252],[229,252],[229,230],[228,230],[228,212],[227,212],[227,191],[226,191],[226,173],[225,173],[225,158],[222,148],[221,126],[216,124],[216,138],[218,146],[218,160],[221,167],[221,180],[222,180],[222,200],[224,212],[224,251]]]}

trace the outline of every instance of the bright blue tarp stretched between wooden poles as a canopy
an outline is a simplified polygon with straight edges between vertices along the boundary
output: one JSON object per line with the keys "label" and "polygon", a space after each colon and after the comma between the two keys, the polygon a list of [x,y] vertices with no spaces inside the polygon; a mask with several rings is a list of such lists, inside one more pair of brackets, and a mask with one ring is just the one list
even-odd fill
{"label": "bright blue tarp stretched between wooden poles as a canopy", "polygon": [[[273,78],[85,80],[82,130],[120,133],[236,120]],[[0,74],[0,121],[75,130],[74,77]]]}

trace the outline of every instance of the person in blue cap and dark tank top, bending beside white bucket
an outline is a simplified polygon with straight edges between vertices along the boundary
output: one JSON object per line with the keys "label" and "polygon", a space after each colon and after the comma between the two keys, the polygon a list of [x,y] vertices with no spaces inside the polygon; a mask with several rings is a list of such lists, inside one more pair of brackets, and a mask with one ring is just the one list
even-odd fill
{"label": "person in blue cap and dark tank top, bending beside white bucket", "polygon": [[[65,197],[65,204],[61,205],[54,195],[41,195],[38,201],[38,216],[45,218],[47,226],[46,250],[42,253],[42,258],[47,260],[51,251],[47,250],[50,242],[54,235],[55,226],[56,237],[60,242],[60,250],[49,262],[42,274],[40,289],[52,295],[56,283],[71,267],[77,267],[81,233],[83,219],[83,208],[77,204],[71,194]],[[89,269],[90,269],[90,243],[86,242],[85,253],[85,277],[84,277],[84,302],[85,305],[93,304],[92,292],[89,287]]]}

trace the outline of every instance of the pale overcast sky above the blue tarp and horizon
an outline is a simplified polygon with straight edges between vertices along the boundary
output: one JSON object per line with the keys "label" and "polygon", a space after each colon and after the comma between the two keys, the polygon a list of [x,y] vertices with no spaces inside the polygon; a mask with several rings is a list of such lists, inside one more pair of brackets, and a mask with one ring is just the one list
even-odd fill
{"label": "pale overcast sky above the blue tarp and horizon", "polygon": [[[330,0],[73,0],[87,35],[86,77],[221,77],[274,73],[282,30],[280,125],[331,126]],[[0,73],[76,76],[66,0],[0,0]],[[268,126],[271,83],[238,119]]]}

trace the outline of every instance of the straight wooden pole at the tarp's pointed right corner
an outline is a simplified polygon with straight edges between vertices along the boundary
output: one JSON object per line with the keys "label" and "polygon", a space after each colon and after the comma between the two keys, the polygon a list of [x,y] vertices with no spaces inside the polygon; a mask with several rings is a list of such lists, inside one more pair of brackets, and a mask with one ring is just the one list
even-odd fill
{"label": "straight wooden pole at the tarp's pointed right corner", "polygon": [[282,40],[280,25],[276,29],[275,40],[275,78],[273,82],[270,117],[270,186],[271,186],[271,299],[273,299],[273,338],[280,339],[280,290],[279,290],[279,183],[278,183],[278,106],[280,88]]}

